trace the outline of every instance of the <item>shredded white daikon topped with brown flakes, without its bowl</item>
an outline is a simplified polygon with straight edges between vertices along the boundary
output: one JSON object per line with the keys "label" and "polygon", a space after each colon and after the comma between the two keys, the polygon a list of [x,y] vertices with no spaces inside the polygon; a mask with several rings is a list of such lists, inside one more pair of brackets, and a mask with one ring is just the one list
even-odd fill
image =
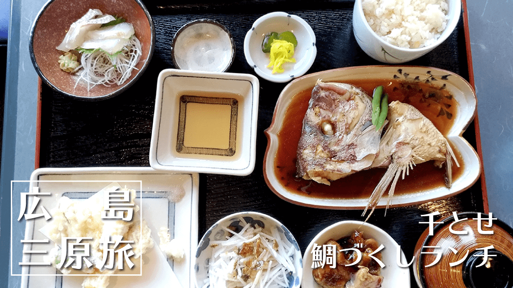
{"label": "shredded white daikon topped with brown flakes, without its bowl", "polygon": [[252,227],[244,218],[238,233],[226,229],[230,235],[223,241],[210,241],[212,258],[208,278],[203,288],[277,288],[288,287],[288,279],[295,272],[291,260],[293,246],[282,241],[275,227]]}

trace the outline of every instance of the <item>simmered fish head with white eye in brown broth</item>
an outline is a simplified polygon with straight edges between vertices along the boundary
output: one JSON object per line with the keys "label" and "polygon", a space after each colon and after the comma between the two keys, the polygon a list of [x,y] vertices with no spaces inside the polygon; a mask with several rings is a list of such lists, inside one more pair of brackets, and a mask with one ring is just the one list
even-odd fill
{"label": "simmered fish head with white eye in brown broth", "polygon": [[370,166],[381,129],[371,124],[372,98],[360,88],[323,83],[312,89],[298,143],[298,176],[329,185]]}

